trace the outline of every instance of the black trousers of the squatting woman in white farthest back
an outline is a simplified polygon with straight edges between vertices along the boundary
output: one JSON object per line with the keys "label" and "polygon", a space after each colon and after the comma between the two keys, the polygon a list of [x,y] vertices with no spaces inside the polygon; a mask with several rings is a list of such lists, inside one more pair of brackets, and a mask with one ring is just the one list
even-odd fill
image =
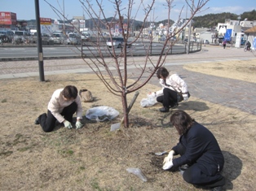
{"label": "black trousers of the squatting woman in white farthest back", "polygon": [[178,102],[178,93],[172,89],[164,89],[163,95],[157,97],[164,107],[173,107]]}

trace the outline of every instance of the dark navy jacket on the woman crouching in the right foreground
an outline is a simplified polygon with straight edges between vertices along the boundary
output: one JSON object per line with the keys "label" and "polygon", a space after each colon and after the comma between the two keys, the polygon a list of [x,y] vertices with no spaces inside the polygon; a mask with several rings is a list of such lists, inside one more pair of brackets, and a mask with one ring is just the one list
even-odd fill
{"label": "dark navy jacket on the woman crouching in the right foreground", "polygon": [[[210,174],[215,174],[216,171],[223,169],[224,158],[218,142],[212,132],[201,124],[195,122],[188,132],[179,138],[179,143],[185,147],[186,151],[179,158],[174,158],[174,167],[197,163],[205,168],[205,171],[210,168],[211,172],[208,171]],[[175,154],[179,154],[177,145],[173,150]]]}

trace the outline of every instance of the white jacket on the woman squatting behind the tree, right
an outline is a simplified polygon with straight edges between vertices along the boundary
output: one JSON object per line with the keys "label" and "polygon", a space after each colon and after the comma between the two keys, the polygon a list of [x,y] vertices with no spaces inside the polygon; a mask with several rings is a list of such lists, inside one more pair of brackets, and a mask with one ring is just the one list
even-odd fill
{"label": "white jacket on the woman squatting behind the tree, right", "polygon": [[163,95],[163,89],[168,88],[172,89],[176,92],[182,92],[183,94],[188,93],[188,86],[186,82],[179,77],[178,74],[173,74],[166,77],[166,84],[165,80],[160,79],[159,83],[162,86],[162,89],[156,92],[156,96]]}

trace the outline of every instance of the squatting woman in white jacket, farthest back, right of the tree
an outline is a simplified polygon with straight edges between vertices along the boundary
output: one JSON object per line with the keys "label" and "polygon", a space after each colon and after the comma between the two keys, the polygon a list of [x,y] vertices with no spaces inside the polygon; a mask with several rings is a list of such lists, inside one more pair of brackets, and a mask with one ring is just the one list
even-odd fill
{"label": "squatting woman in white jacket, farthest back, right of the tree", "polygon": [[179,106],[179,102],[188,100],[190,96],[188,86],[178,74],[169,75],[166,67],[160,67],[157,70],[157,78],[162,86],[161,90],[154,93],[154,96],[157,97],[157,102],[163,104],[159,111],[169,112],[170,108]]}

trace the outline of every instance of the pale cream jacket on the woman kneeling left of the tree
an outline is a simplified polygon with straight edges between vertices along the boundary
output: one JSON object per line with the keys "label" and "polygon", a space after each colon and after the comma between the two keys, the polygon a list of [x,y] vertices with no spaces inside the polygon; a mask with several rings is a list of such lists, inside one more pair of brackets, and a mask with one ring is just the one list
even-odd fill
{"label": "pale cream jacket on the woman kneeling left of the tree", "polygon": [[[80,97],[77,95],[77,98],[73,101],[65,101],[61,93],[63,89],[57,89],[51,96],[51,100],[48,103],[48,110],[51,111],[51,114],[60,122],[64,122],[64,117],[60,115],[64,107],[71,105],[71,103],[77,103],[77,119],[82,119],[82,103]],[[69,121],[71,122],[71,121]]]}

